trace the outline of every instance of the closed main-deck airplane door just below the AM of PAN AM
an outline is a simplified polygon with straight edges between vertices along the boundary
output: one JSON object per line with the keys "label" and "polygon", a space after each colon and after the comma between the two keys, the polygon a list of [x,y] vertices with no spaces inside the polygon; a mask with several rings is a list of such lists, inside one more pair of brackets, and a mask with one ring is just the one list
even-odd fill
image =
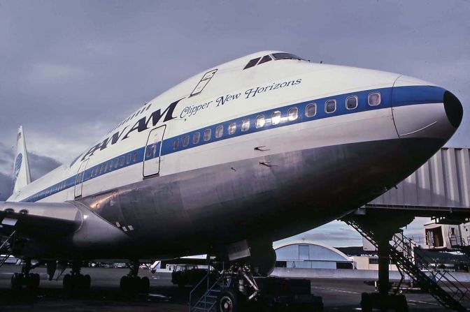
{"label": "closed main-deck airplane door just below the AM of PAN AM", "polygon": [[143,154],[143,176],[149,177],[160,172],[160,153],[166,125],[150,131]]}

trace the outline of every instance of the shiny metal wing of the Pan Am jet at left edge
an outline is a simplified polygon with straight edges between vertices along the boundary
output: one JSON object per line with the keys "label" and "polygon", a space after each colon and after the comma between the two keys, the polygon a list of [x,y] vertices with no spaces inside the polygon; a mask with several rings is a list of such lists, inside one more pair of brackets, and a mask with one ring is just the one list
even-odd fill
{"label": "shiny metal wing of the Pan Am jet at left edge", "polygon": [[0,234],[41,238],[80,228],[82,212],[73,202],[0,202]]}

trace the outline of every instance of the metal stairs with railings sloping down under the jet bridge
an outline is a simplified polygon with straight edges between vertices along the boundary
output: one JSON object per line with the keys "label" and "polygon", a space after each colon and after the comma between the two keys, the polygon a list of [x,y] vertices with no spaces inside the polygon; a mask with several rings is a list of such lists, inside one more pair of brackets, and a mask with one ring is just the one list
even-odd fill
{"label": "metal stairs with railings sloping down under the jet bridge", "polygon": [[[373,232],[366,230],[355,221],[348,220],[346,223],[378,248],[378,242],[374,239]],[[429,292],[447,309],[465,311],[462,301],[470,298],[470,290],[460,281],[457,281],[450,272],[443,272],[429,264],[422,255],[415,253],[415,248],[418,249],[418,244],[402,233],[393,235],[390,241],[390,258],[397,265],[402,279],[403,273],[408,274],[415,285],[419,285],[422,290]],[[423,272],[422,269],[429,270],[428,274]]]}

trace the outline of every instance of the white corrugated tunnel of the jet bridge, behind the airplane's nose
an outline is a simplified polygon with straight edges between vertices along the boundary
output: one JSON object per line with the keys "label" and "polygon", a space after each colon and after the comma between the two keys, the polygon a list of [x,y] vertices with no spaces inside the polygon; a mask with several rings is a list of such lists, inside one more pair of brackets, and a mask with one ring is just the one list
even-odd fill
{"label": "white corrugated tunnel of the jet bridge, behind the airplane's nose", "polygon": [[[392,165],[392,164],[390,164]],[[418,170],[358,209],[399,211],[458,224],[470,217],[470,148],[442,148]]]}

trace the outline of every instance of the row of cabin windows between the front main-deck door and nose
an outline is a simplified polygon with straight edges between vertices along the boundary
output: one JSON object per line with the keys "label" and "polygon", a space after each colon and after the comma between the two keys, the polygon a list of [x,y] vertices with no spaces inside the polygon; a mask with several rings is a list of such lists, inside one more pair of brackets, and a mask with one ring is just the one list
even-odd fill
{"label": "row of cabin windows between the front main-deck door and nose", "polygon": [[[380,93],[374,92],[369,94],[368,96],[368,103],[370,106],[376,106],[380,104]],[[348,96],[346,98],[346,108],[348,110],[354,110],[357,108],[357,96]],[[328,114],[332,112],[336,112],[336,100],[328,100],[325,102],[325,112]],[[317,114],[317,104],[316,103],[311,103],[308,104],[305,108],[305,115],[306,117],[314,117]],[[287,121],[294,121],[297,120],[299,117],[299,110],[297,107],[291,107],[287,111]],[[276,126],[280,124],[280,121],[283,120],[282,114],[280,111],[276,110],[271,114],[271,124]],[[266,117],[264,117],[264,114],[260,114],[256,117],[255,121],[255,128],[262,128],[266,125]],[[250,129],[250,119],[243,119],[241,122],[241,131],[245,132]],[[233,135],[236,132],[236,123],[232,122],[232,124],[229,124],[229,127],[227,128],[227,134],[228,135]],[[215,138],[222,138],[222,135],[224,134],[224,126],[220,125],[215,128]],[[211,140],[211,135],[212,135],[212,129],[206,129],[204,131],[204,137],[203,140],[204,142]],[[195,132],[192,135],[192,144],[198,144],[201,139],[201,133]],[[183,147],[187,147],[190,144],[190,135],[185,135],[183,137]],[[180,139],[177,138],[173,141],[173,149],[178,149],[180,145]]]}

